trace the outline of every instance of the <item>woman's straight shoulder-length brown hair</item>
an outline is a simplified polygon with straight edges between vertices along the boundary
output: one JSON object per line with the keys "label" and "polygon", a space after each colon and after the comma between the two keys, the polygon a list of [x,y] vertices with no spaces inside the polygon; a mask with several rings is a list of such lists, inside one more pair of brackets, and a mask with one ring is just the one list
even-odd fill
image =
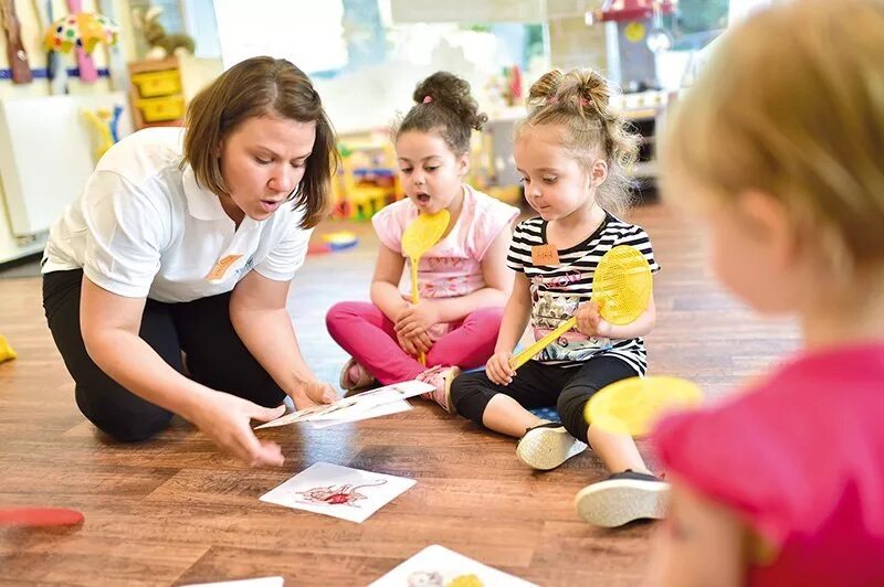
{"label": "woman's straight shoulder-length brown hair", "polygon": [[238,63],[200,92],[187,110],[185,160],[199,184],[218,194],[229,192],[221,177],[221,141],[249,118],[275,116],[316,122],[316,142],[304,178],[288,196],[304,209],[301,226],[315,226],[330,200],[330,178],[337,169],[335,131],[309,77],[286,60],[252,57]]}

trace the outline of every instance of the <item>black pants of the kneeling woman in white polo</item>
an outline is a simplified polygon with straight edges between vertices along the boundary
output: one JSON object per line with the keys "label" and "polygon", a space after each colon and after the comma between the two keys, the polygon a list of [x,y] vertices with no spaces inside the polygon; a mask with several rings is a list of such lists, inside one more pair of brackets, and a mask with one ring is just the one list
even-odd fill
{"label": "black pants of the kneeling woman in white polo", "polygon": [[[76,383],[76,404],[95,426],[117,440],[144,440],[172,417],[125,389],[90,357],[80,331],[81,269],[43,276],[43,309],[55,345]],[[182,303],[148,299],[138,335],[169,365],[194,381],[266,407],[285,394],[252,356],[230,321],[230,294]]]}

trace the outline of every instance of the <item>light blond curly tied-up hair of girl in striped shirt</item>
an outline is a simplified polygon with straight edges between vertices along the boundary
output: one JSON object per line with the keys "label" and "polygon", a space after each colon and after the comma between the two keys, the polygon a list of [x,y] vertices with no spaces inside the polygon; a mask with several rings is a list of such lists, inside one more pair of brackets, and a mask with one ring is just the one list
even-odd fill
{"label": "light blond curly tied-up hair of girl in striped shirt", "polygon": [[560,126],[562,147],[587,172],[599,158],[608,163],[608,179],[596,198],[604,210],[622,214],[631,200],[625,170],[635,162],[639,137],[611,107],[612,93],[593,70],[552,70],[532,86],[528,117],[516,127],[516,136],[540,125]]}

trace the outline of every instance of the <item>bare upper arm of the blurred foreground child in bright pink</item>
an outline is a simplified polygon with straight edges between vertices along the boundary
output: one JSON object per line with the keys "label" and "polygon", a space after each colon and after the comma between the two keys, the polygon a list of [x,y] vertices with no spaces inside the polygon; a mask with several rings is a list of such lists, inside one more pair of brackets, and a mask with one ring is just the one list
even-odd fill
{"label": "bare upper arm of the blurred foreground child in bright pink", "polygon": [[746,533],[732,511],[674,482],[667,515],[655,538],[649,585],[744,585]]}

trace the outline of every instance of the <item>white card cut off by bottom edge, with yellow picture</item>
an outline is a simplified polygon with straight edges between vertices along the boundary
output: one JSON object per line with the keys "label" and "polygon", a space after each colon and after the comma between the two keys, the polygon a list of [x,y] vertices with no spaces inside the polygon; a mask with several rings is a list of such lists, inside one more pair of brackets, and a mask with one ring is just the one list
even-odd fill
{"label": "white card cut off by bottom edge, with yellow picture", "polygon": [[438,544],[419,552],[369,587],[408,587],[411,585],[537,587],[533,583],[507,575]]}

